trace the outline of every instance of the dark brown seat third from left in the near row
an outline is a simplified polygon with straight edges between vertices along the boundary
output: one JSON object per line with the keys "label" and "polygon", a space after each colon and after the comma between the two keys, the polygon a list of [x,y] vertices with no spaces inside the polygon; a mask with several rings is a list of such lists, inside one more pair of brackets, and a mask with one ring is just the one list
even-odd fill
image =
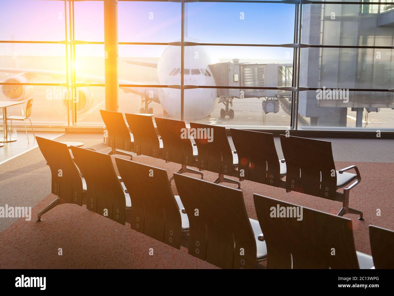
{"label": "dark brown seat third from left in the near row", "polygon": [[167,171],[115,158],[117,168],[130,192],[131,228],[180,249],[182,235],[189,232],[189,220],[183,204],[174,196]]}

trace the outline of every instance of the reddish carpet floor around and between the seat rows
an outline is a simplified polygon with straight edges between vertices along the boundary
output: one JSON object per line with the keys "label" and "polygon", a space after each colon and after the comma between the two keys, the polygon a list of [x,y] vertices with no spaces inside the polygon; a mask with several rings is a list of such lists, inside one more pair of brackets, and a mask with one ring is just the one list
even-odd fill
{"label": "reddish carpet floor around and between the seat rows", "polygon": [[[178,170],[178,164],[163,160],[134,157],[137,162],[167,169],[168,175]],[[336,162],[340,169],[351,165]],[[362,181],[351,191],[349,206],[364,212],[365,221],[347,214],[353,220],[356,250],[370,254],[368,225],[394,229],[394,164],[357,162]],[[205,173],[205,180],[216,175]],[[300,193],[286,193],[284,189],[249,181],[241,183],[249,217],[256,219],[253,193],[292,202],[309,208],[336,214],[340,202],[311,197]],[[236,185],[224,184],[235,188]],[[175,185],[172,186],[176,193]],[[32,220],[20,218],[0,233],[0,268],[216,268],[180,250],[160,243],[141,233],[95,214],[85,208],[63,204],[36,222],[37,213],[56,197],[48,195],[32,209]],[[381,215],[377,216],[377,209]],[[63,255],[58,255],[59,248]],[[149,248],[154,255],[149,256]]]}

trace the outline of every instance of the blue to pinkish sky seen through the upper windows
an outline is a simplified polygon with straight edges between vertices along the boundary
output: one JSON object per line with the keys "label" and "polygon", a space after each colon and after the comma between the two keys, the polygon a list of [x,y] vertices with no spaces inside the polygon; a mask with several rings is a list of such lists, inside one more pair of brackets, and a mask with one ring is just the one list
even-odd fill
{"label": "blue to pinkish sky seen through the upper windows", "polygon": [[[103,3],[75,2],[75,39],[104,40]],[[189,3],[188,36],[202,42],[266,43],[293,42],[294,5],[254,3]],[[120,42],[171,42],[180,39],[180,3],[119,2]],[[64,40],[64,2],[46,0],[0,0],[1,40]],[[243,19],[242,19],[243,17]],[[15,45],[20,55],[63,55],[62,46]],[[97,55],[102,46],[80,46],[81,55]],[[160,56],[163,47],[123,46],[121,56]],[[280,48],[210,48],[223,58],[284,59]],[[0,44],[0,54],[11,52]],[[264,57],[263,57],[264,56]],[[269,57],[268,57],[269,56]]]}

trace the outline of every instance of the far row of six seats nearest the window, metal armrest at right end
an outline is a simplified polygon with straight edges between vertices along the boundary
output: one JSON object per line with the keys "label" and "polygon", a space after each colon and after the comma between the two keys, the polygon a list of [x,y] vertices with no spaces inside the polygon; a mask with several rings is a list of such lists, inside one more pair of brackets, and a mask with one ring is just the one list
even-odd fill
{"label": "far row of six seats nearest the window, metal armrest at right end", "polygon": [[[273,134],[230,129],[236,149],[232,151],[225,127],[191,122],[190,129],[212,131],[212,141],[208,141],[206,138],[185,138],[182,135],[187,129],[184,121],[155,118],[159,136],[151,114],[125,114],[130,132],[122,113],[100,112],[108,131],[108,145],[112,147],[109,154],[131,156],[126,152],[129,151],[161,158],[181,164],[178,173],[195,173],[201,178],[202,171],[207,170],[218,174],[214,183],[234,183],[238,188],[240,182],[226,176],[284,188],[286,192],[297,191],[336,200],[342,202],[339,216],[353,213],[363,220],[362,211],[349,207],[350,190],[361,182],[359,169],[351,165],[337,171],[331,142],[281,135],[284,159],[279,160]],[[356,174],[347,173],[351,169]],[[337,191],[340,188],[344,188],[343,192]]]}

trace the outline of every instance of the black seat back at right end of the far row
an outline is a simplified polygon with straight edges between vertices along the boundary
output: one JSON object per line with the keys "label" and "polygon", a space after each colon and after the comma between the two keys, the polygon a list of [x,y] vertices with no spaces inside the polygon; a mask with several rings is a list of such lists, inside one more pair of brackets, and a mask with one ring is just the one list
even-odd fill
{"label": "black seat back at right end of the far row", "polygon": [[335,200],[336,171],[331,142],[281,135],[286,190]]}

